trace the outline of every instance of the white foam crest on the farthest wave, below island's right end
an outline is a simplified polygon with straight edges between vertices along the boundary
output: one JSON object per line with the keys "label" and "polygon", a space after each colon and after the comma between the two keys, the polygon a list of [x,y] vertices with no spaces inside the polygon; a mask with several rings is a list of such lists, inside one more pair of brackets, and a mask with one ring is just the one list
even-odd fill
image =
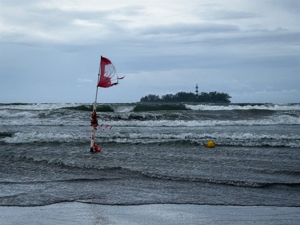
{"label": "white foam crest on the farthest wave, below island's right end", "polygon": [[288,110],[300,110],[300,104],[264,104],[264,105],[229,105],[229,106],[214,106],[214,105],[188,105],[185,107],[189,110],[278,110],[278,111],[288,111]]}

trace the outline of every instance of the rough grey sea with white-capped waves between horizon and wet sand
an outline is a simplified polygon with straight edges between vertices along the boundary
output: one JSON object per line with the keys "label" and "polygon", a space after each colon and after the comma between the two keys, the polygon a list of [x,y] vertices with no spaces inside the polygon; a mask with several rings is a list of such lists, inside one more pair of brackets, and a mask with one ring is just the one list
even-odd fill
{"label": "rough grey sea with white-capped waves between horizon and wet sand", "polygon": [[97,111],[90,153],[92,104],[0,104],[0,205],[300,206],[300,104]]}

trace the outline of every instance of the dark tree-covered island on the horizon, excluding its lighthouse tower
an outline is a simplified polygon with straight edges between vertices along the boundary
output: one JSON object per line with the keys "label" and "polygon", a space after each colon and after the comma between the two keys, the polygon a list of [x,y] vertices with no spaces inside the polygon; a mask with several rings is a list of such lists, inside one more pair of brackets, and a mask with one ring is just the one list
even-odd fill
{"label": "dark tree-covered island on the horizon, excluding its lighthouse tower", "polygon": [[212,103],[230,103],[231,96],[227,93],[216,91],[201,92],[195,94],[193,92],[177,92],[176,94],[166,94],[161,97],[155,94],[148,94],[142,97],[140,102],[212,102]]}

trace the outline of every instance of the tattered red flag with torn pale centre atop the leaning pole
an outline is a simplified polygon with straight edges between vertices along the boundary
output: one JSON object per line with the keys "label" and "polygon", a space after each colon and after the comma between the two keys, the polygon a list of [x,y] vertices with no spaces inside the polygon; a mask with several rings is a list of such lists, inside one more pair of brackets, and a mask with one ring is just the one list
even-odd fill
{"label": "tattered red flag with torn pale centre atop the leaning pole", "polygon": [[101,88],[109,88],[113,85],[117,85],[116,83],[111,83],[111,78],[116,74],[116,69],[109,61],[109,59],[101,56],[101,71],[100,71],[100,80],[98,83],[98,87]]}

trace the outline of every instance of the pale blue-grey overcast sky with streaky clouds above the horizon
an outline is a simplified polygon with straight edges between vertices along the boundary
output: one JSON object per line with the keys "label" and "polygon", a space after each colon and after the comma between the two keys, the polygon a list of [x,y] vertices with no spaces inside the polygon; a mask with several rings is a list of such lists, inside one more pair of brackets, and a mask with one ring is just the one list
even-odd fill
{"label": "pale blue-grey overcast sky with streaky clouds above the horizon", "polygon": [[0,102],[91,103],[218,91],[300,102],[300,0],[0,1]]}

